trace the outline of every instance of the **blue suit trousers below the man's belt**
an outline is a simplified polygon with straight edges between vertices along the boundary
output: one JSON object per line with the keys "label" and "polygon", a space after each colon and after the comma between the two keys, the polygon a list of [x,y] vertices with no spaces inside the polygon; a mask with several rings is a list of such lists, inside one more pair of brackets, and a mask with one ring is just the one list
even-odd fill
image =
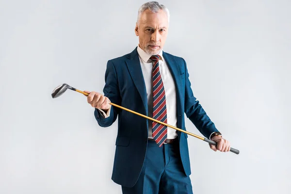
{"label": "blue suit trousers below the man's belt", "polygon": [[133,187],[123,187],[123,194],[193,194],[191,180],[183,170],[178,141],[159,147],[148,141],[142,172]]}

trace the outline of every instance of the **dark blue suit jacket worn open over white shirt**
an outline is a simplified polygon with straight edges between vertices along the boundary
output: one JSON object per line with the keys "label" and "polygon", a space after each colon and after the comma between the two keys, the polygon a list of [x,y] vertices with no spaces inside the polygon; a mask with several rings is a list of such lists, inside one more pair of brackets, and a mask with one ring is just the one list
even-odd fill
{"label": "dark blue suit jacket worn open over white shirt", "polygon": [[[209,137],[218,131],[207,116],[199,101],[193,95],[189,74],[184,59],[163,52],[169,66],[177,91],[178,128],[185,129],[184,113],[195,127]],[[105,73],[104,96],[111,102],[132,111],[148,115],[146,85],[138,57],[137,48],[131,53],[109,60]],[[99,126],[108,127],[118,115],[118,132],[113,164],[112,179],[125,187],[136,183],[146,156],[148,119],[112,106],[110,116],[103,118],[95,109],[95,118]],[[150,121],[151,122],[151,121]],[[191,174],[187,134],[178,131],[180,157],[185,174]]]}

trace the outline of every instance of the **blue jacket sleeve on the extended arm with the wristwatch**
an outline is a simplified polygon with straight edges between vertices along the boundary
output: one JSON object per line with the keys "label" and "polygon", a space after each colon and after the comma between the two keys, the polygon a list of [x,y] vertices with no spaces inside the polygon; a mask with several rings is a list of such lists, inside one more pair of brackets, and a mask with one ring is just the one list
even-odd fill
{"label": "blue jacket sleeve on the extended arm with the wristwatch", "polygon": [[214,123],[210,120],[209,116],[206,114],[199,101],[194,97],[191,82],[189,80],[189,73],[187,70],[187,65],[183,59],[185,65],[185,113],[186,116],[191,120],[195,127],[200,131],[202,135],[209,138],[212,132],[218,130],[216,129]]}

